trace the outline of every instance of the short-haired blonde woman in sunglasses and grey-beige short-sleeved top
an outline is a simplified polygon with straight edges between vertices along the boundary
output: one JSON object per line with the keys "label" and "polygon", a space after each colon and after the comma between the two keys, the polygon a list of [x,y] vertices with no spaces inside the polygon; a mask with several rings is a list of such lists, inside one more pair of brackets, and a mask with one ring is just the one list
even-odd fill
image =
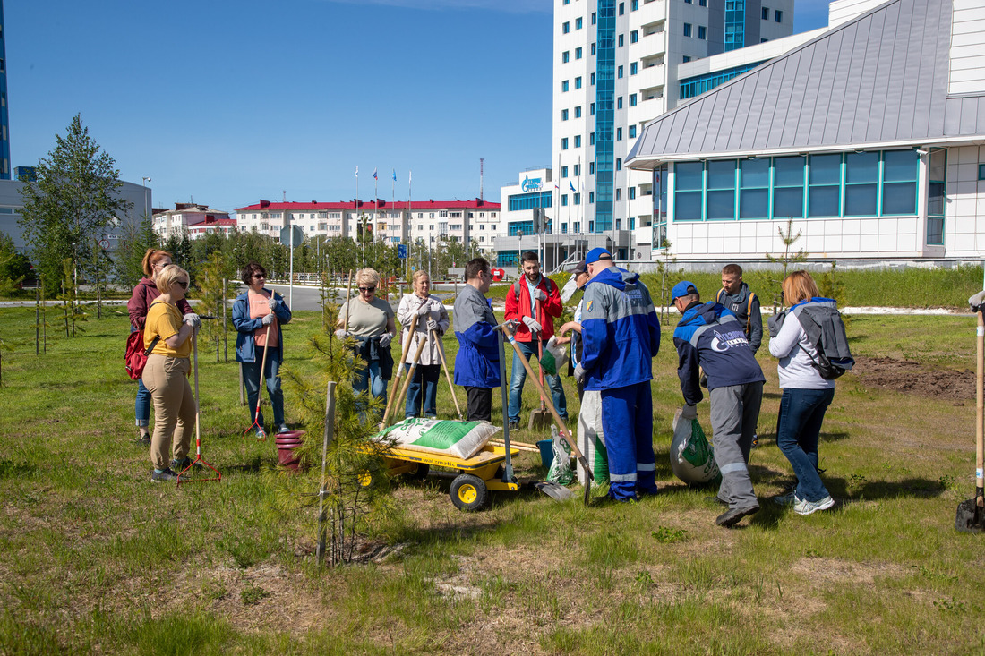
{"label": "short-haired blonde woman in sunglasses and grey-beige short-sleeved top", "polygon": [[365,363],[356,374],[353,389],[369,390],[374,399],[386,403],[386,381],[393,373],[390,340],[397,331],[393,308],[376,297],[379,274],[374,269],[367,267],[357,273],[356,284],[360,295],[342,308],[335,336],[343,340],[355,338],[356,356]]}

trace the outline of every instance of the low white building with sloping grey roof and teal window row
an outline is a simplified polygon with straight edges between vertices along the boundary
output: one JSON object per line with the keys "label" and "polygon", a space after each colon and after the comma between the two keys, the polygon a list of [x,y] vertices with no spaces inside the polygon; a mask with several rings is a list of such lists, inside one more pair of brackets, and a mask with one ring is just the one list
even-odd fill
{"label": "low white building with sloping grey roof and teal window row", "polygon": [[679,259],[761,260],[788,221],[821,260],[985,253],[985,6],[844,0],[831,24],[645,126],[627,164]]}

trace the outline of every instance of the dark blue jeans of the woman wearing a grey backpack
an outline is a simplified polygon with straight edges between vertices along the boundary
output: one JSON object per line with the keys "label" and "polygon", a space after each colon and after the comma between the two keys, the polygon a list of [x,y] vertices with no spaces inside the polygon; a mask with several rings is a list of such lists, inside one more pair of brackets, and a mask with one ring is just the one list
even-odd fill
{"label": "dark blue jeans of the woman wearing a grey backpack", "polygon": [[786,387],[780,397],[776,445],[794,468],[797,476],[797,498],[820,501],[829,495],[818,474],[818,437],[821,434],[824,412],[833,398],[833,387]]}

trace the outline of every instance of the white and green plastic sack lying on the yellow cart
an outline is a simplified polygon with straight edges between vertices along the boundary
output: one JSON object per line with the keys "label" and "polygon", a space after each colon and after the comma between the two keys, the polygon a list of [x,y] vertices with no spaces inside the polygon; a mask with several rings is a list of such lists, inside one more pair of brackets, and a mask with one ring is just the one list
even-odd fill
{"label": "white and green plastic sack lying on the yellow cart", "polygon": [[502,430],[486,422],[406,419],[377,433],[396,439],[396,446],[427,453],[450,455],[467,460]]}

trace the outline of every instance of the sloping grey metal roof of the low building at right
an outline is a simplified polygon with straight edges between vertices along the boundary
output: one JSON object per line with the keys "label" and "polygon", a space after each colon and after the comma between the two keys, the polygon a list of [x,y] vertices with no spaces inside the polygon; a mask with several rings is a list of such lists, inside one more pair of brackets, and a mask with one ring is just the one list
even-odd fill
{"label": "sloping grey metal roof of the low building at right", "polygon": [[626,164],[985,136],[948,96],[952,0],[889,0],[646,125]]}

